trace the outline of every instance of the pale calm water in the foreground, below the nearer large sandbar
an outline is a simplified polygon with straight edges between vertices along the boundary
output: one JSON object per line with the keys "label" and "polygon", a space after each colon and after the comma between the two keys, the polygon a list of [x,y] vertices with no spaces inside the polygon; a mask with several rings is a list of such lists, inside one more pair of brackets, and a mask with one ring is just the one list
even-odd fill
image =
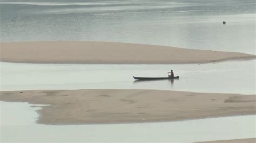
{"label": "pale calm water in the foreground, below the nearer large sandbar", "polygon": [[256,137],[255,115],[163,123],[54,126],[36,124],[38,108],[30,108],[31,104],[0,102],[0,105],[1,142],[193,142]]}

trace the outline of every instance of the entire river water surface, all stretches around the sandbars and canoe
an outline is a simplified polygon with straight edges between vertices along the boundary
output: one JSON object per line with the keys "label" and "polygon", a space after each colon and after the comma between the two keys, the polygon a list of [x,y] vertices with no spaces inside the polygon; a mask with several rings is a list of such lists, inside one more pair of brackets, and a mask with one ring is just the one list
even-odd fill
{"label": "entire river water surface, all stretches around the sandbars and canoe", "polygon": [[[0,0],[0,42],[114,41],[255,54],[254,0]],[[223,25],[226,21],[226,25]],[[161,89],[255,94],[255,60],[203,65],[0,62],[0,89]],[[132,76],[179,80],[135,82]],[[165,123],[38,125],[27,103],[0,102],[0,142],[193,142],[255,138],[255,116]]]}

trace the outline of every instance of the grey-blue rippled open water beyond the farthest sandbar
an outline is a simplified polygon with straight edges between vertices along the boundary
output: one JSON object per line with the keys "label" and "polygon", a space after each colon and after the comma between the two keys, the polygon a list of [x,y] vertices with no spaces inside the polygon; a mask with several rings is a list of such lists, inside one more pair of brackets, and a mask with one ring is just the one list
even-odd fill
{"label": "grey-blue rippled open water beyond the farthest sandbar", "polygon": [[254,0],[0,0],[0,41],[116,41],[255,54],[255,6]]}

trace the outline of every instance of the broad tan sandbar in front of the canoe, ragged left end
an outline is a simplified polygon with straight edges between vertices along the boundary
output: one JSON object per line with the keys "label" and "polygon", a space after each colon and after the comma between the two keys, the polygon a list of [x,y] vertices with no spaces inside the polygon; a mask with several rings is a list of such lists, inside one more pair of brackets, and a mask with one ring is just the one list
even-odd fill
{"label": "broad tan sandbar in front of the canoe, ragged left end", "polygon": [[40,124],[109,124],[254,115],[256,95],[167,90],[2,91],[1,101],[50,104]]}

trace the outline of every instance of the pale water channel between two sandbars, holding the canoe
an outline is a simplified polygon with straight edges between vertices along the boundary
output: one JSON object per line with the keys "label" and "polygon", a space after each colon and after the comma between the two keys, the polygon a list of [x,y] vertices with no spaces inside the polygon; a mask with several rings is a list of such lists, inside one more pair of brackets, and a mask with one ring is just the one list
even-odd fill
{"label": "pale water channel between two sandbars, holding the canoe", "polygon": [[[35,89],[160,89],[255,94],[256,60],[203,65],[79,65],[0,62],[2,91]],[[134,81],[132,76],[179,80]]]}

